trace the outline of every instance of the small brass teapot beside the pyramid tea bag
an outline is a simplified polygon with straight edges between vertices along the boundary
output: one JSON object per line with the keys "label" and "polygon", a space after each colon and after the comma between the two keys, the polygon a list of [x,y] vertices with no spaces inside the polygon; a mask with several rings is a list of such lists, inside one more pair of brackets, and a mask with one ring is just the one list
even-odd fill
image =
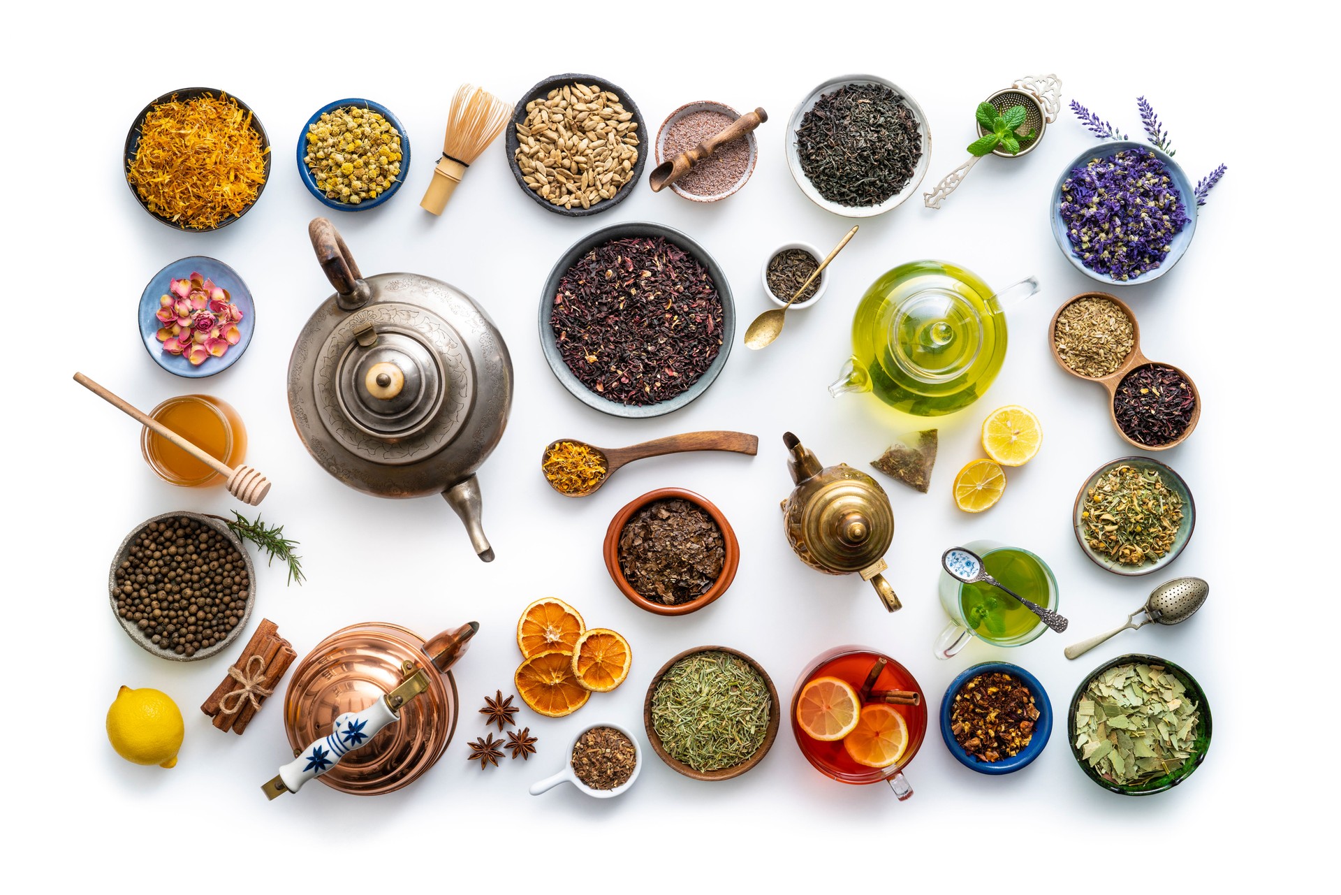
{"label": "small brass teapot beside the pyramid tea bag", "polygon": [[825,574],[856,572],[874,585],[885,609],[901,609],[894,589],[880,574],[889,568],[885,550],[894,539],[889,495],[873,478],[846,463],[821,467],[791,432],[782,436],[782,443],[791,451],[787,470],[797,483],[782,502],[787,543],[811,569]]}

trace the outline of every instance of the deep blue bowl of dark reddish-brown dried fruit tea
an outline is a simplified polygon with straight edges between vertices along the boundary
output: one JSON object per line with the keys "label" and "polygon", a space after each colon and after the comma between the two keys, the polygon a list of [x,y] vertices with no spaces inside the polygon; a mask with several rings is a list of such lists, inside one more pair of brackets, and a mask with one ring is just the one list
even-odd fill
{"label": "deep blue bowl of dark reddish-brown dried fruit tea", "polygon": [[949,682],[940,735],[955,759],[979,774],[1011,774],[1043,751],[1053,703],[1034,675],[1008,662],[983,662]]}

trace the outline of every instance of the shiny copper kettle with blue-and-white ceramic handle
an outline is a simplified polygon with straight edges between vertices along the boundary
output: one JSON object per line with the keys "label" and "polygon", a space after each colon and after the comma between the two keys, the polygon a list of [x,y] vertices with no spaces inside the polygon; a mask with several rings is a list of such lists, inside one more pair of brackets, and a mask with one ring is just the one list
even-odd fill
{"label": "shiny copper kettle with blue-and-white ceramic handle", "polygon": [[418,780],[452,741],[459,699],[449,668],[479,628],[471,621],[425,641],[373,621],[316,644],[284,695],[294,761],[263,786],[266,794],[320,780],[342,793],[378,796]]}

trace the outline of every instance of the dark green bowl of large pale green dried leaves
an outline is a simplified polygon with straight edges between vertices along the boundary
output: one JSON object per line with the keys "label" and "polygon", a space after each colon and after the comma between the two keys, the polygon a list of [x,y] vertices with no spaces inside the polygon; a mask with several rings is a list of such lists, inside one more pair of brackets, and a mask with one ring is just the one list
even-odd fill
{"label": "dark green bowl of large pale green dried leaves", "polygon": [[1132,652],[1105,662],[1075,688],[1066,738],[1081,770],[1104,789],[1153,796],[1206,761],[1211,706],[1185,670]]}

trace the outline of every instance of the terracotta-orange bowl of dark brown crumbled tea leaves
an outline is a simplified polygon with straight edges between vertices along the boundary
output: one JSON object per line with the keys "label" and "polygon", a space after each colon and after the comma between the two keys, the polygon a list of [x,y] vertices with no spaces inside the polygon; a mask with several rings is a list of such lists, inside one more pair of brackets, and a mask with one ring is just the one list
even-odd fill
{"label": "terracotta-orange bowl of dark brown crumbled tea leaves", "polygon": [[684,488],[624,505],[605,533],[605,568],[629,602],[658,616],[704,608],[731,586],[740,542],[721,510]]}

